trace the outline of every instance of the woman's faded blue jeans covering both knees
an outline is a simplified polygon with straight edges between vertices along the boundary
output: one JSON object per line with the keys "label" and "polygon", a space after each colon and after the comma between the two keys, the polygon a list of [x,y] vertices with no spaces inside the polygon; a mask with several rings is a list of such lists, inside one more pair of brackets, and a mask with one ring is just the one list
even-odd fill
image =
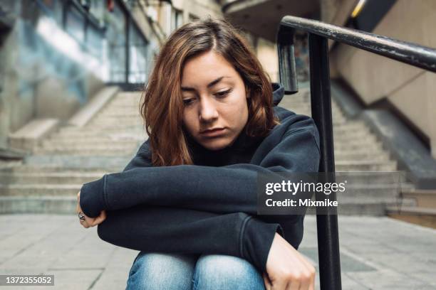
{"label": "woman's faded blue jeans covering both knees", "polygon": [[264,290],[264,280],[245,259],[221,254],[140,252],[130,269],[126,290]]}

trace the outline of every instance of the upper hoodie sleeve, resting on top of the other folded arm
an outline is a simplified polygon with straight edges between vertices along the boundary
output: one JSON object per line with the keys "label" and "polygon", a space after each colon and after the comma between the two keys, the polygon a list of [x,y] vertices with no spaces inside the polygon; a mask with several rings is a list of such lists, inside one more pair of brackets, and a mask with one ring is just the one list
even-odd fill
{"label": "upper hoodie sleeve, resting on top of the other folded arm", "polygon": [[[101,210],[147,204],[212,213],[257,213],[258,174],[317,172],[318,131],[313,120],[293,115],[262,149],[255,163],[212,167],[196,165],[133,167],[83,185],[81,208],[95,217]],[[279,130],[278,130],[279,131]],[[269,147],[269,148],[268,148]],[[137,156],[131,163],[144,157]],[[145,161],[144,161],[145,162]],[[130,168],[130,169],[129,169]]]}

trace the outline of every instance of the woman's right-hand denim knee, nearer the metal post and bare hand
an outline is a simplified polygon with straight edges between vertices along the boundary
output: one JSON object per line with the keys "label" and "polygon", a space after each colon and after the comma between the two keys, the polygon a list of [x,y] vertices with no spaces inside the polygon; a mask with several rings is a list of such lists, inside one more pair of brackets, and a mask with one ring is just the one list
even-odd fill
{"label": "woman's right-hand denim knee, nearer the metal post and bare hand", "polygon": [[211,254],[197,260],[193,289],[265,289],[259,271],[245,259]]}

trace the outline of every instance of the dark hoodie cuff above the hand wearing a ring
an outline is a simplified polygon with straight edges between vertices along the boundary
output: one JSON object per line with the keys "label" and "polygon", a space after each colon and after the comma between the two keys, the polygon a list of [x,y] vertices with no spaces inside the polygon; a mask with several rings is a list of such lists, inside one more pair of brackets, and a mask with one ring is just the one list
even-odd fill
{"label": "dark hoodie cuff above the hand wearing a ring", "polygon": [[105,183],[106,175],[97,181],[83,184],[81,188],[81,208],[85,215],[96,218],[102,210],[105,210]]}

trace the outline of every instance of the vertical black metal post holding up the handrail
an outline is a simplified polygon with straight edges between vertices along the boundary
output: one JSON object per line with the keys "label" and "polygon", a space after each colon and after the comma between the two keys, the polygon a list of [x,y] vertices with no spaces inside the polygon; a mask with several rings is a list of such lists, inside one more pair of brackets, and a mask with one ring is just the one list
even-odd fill
{"label": "vertical black metal post holding up the handrail", "polygon": [[[330,73],[328,67],[327,39],[309,33],[309,58],[311,74],[312,118],[318,127],[321,141],[319,172],[334,173],[333,122],[331,118]],[[330,176],[330,177],[329,177]],[[327,174],[328,182],[334,182],[333,174]],[[316,200],[324,200],[323,193]],[[330,200],[336,200],[331,193]],[[326,210],[323,208],[323,210]],[[341,286],[341,262],[339,257],[338,215],[336,209],[316,215],[318,232],[318,264],[322,290],[338,290]]]}

